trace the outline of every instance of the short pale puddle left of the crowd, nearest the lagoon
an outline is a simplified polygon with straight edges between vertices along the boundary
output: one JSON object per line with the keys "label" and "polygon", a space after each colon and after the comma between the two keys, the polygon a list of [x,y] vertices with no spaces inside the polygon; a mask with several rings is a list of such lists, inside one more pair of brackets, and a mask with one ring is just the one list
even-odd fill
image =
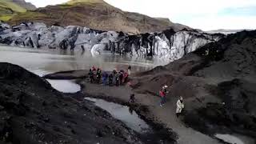
{"label": "short pale puddle left of the crowd, nearest the lagoon", "polygon": [[50,82],[50,85],[55,89],[63,93],[76,93],[81,90],[81,86],[72,80],[51,80],[46,79]]}

